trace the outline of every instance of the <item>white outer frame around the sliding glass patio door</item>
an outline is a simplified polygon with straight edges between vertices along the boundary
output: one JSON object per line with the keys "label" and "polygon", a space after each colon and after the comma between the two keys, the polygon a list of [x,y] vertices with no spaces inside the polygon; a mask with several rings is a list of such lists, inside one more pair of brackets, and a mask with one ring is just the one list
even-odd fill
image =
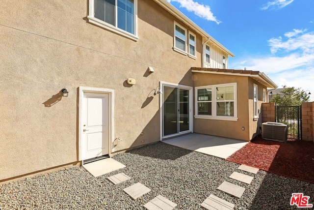
{"label": "white outer frame around the sliding glass patio door", "polygon": [[182,134],[185,134],[185,133],[191,133],[191,132],[193,133],[193,125],[194,125],[194,122],[193,122],[193,87],[160,81],[159,82],[159,90],[163,91],[163,87],[164,86],[173,87],[173,88],[181,88],[181,89],[188,90],[188,94],[190,96],[189,97],[189,104],[191,105],[190,109],[189,109],[189,113],[190,113],[190,115],[189,115],[189,122],[190,122],[189,126],[190,126],[190,129],[186,130],[186,131],[182,131],[182,132],[176,133],[176,134],[163,136],[163,94],[159,94],[160,141],[162,141],[163,138],[169,138],[169,137],[173,137],[173,136],[178,136],[178,135],[182,135]]}

